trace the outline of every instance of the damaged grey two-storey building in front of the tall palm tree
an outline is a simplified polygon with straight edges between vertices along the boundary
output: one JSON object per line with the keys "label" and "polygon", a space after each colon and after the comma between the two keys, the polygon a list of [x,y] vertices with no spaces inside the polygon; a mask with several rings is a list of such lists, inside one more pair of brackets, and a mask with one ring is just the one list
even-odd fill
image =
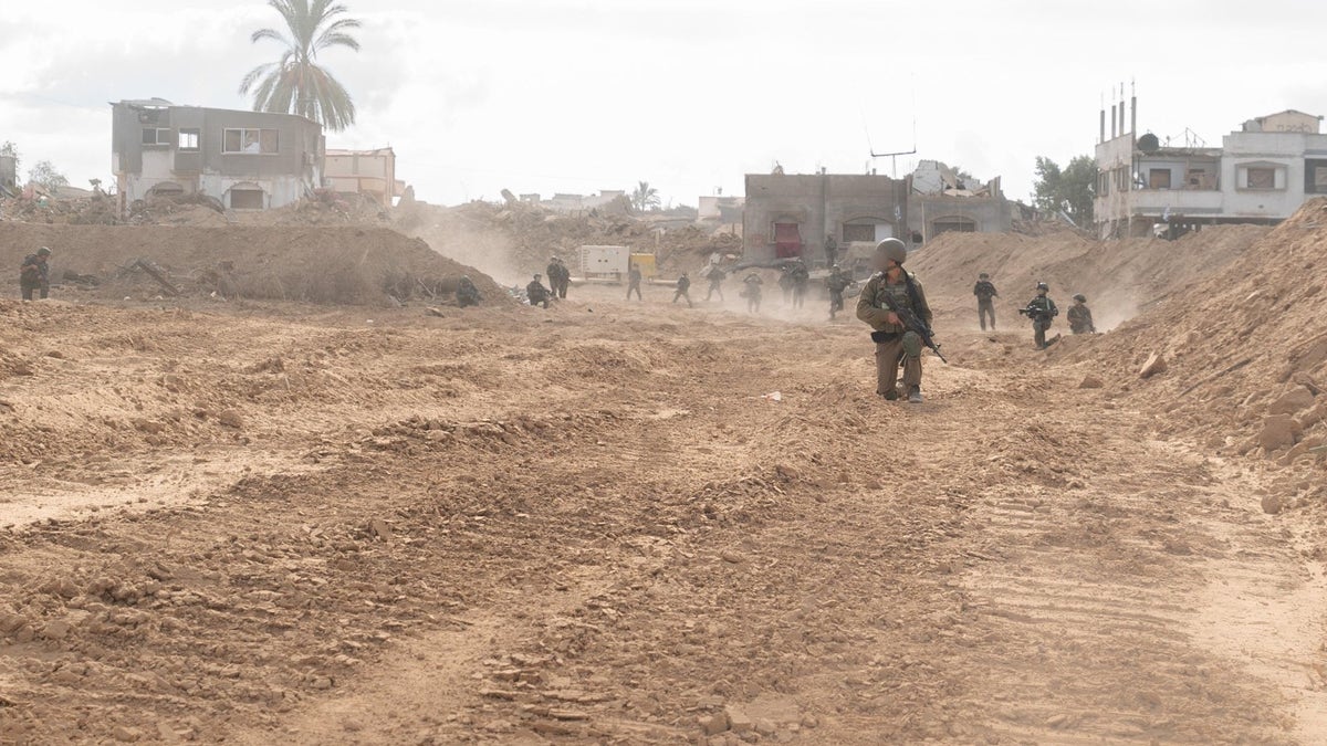
{"label": "damaged grey two-storey building in front of the tall palm tree", "polygon": [[111,171],[119,207],[154,194],[204,194],[231,210],[299,202],[322,186],[322,126],[292,114],[111,105]]}

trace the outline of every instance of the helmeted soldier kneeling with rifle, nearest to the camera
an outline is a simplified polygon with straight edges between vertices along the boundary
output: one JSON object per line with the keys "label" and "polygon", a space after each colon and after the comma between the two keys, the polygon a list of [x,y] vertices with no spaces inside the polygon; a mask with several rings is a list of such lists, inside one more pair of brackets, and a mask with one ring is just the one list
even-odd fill
{"label": "helmeted soldier kneeling with rifle, nearest to the camera", "polygon": [[904,389],[908,401],[921,404],[922,340],[908,331],[892,309],[908,309],[928,327],[933,321],[921,281],[904,269],[908,247],[898,239],[885,239],[876,247],[873,264],[877,272],[867,281],[857,301],[857,319],[871,324],[876,342],[876,393],[886,401],[898,400],[898,364],[904,365]]}

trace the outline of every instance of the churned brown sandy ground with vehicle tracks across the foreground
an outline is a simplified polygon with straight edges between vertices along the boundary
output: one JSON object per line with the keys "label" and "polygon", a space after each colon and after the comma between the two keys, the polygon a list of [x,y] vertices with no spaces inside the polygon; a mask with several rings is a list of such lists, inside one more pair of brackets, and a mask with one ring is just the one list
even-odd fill
{"label": "churned brown sandy ground with vehicle tracks across the foreground", "polygon": [[1261,467],[1026,329],[904,406],[617,292],[0,307],[0,743],[1327,742]]}

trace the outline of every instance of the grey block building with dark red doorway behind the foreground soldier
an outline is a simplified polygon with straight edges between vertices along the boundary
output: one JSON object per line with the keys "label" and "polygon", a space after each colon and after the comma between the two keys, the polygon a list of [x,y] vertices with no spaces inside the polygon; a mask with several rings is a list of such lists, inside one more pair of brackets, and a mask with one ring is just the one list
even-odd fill
{"label": "grey block building with dark red doorway behind the foreground soldier", "polygon": [[747,260],[824,260],[825,236],[840,248],[908,235],[912,178],[841,174],[748,174],[742,215]]}

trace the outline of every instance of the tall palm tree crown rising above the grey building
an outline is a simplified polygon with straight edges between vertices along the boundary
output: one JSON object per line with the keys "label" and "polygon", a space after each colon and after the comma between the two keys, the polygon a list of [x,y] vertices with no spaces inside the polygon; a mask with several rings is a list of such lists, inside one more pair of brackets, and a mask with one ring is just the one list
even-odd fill
{"label": "tall palm tree crown rising above the grey building", "polygon": [[354,101],[325,68],[317,64],[318,52],[333,46],[360,50],[350,29],[360,28],[356,19],[338,19],[345,5],[333,0],[268,0],[289,36],[271,28],[253,32],[252,41],[272,40],[285,46],[281,60],[253,68],[240,84],[240,94],[253,92],[255,112],[299,114],[341,131],[354,123]]}

